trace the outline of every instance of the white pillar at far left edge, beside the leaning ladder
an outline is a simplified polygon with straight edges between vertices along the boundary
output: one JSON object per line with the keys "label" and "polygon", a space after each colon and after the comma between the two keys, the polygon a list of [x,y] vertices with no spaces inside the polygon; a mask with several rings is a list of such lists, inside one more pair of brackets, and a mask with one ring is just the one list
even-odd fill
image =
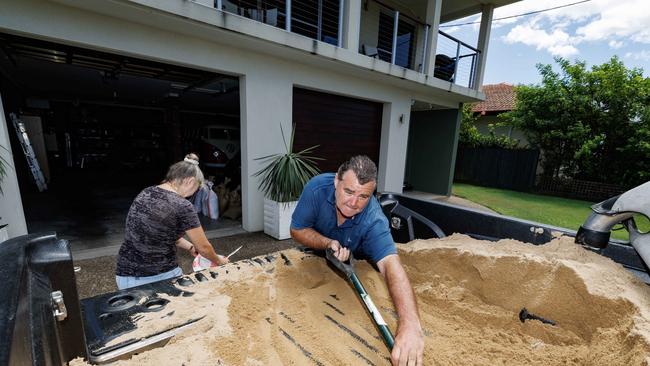
{"label": "white pillar at far left edge, beside the leaning ladder", "polygon": [[[9,238],[27,234],[23,202],[20,199],[18,177],[16,176],[16,168],[14,167],[14,156],[9,143],[9,133],[12,132],[16,133],[13,130],[13,126],[7,126],[2,98],[0,96],[0,156],[5,160],[5,171],[7,173],[2,182],[0,182],[3,192],[0,193],[0,224],[9,224],[7,226]],[[6,166],[7,164],[9,166]]]}

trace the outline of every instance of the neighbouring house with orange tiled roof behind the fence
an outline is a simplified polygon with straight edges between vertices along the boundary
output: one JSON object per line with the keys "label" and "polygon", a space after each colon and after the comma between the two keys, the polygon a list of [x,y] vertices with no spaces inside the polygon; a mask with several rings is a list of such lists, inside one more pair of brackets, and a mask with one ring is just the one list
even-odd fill
{"label": "neighbouring house with orange tiled roof behind the fence", "polygon": [[493,124],[497,135],[519,140],[519,146],[528,145],[523,132],[512,126],[496,126],[499,114],[515,108],[515,87],[508,83],[488,84],[483,85],[481,91],[485,94],[485,100],[472,104],[472,112],[478,116],[476,120],[478,131],[484,135],[488,134],[490,131],[488,125]]}

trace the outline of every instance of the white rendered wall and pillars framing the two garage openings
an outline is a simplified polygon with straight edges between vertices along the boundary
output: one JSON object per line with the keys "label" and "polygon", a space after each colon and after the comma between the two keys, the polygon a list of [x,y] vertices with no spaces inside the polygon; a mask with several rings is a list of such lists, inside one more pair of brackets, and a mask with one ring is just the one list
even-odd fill
{"label": "white rendered wall and pillars framing the two garage openings", "polygon": [[[184,6],[192,5],[187,3]],[[401,192],[402,189],[411,99],[439,105],[458,103],[454,100],[454,93],[441,91],[443,97],[437,98],[434,88],[424,89],[414,82],[404,83],[401,79],[377,76],[376,73],[351,76],[349,66],[344,63],[335,65],[340,66],[341,72],[337,72],[338,68],[332,67],[335,61],[321,56],[309,56],[305,62],[288,60],[270,52],[266,41],[259,41],[256,49],[236,47],[232,45],[233,38],[241,35],[223,32],[220,37],[208,37],[206,34],[214,32],[215,27],[208,28],[174,15],[149,12],[146,19],[142,19],[156,26],[140,24],[136,22],[139,18],[128,15],[134,19],[125,20],[50,1],[25,0],[4,6],[0,13],[0,30],[239,75],[243,227],[248,231],[261,230],[263,225],[263,202],[257,189],[258,180],[251,177],[261,167],[255,158],[282,152],[279,124],[282,123],[285,131],[289,131],[294,86],[385,103],[378,162],[381,171],[378,188],[382,191]],[[201,30],[205,32],[201,33]],[[221,40],[225,43],[219,43]],[[242,38],[244,41],[256,42]],[[316,61],[313,57],[317,57]],[[314,62],[323,67],[314,66]],[[413,90],[398,84],[412,86]],[[398,119],[402,115],[404,120],[400,123]]]}

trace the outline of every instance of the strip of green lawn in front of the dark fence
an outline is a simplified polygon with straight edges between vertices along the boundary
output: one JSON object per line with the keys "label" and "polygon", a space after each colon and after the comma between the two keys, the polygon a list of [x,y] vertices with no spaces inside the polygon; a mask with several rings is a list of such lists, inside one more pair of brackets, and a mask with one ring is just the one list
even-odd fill
{"label": "strip of green lawn in front of the dark fence", "polygon": [[[572,230],[578,230],[580,225],[591,214],[590,207],[594,204],[594,202],[588,201],[461,183],[453,185],[452,194],[488,207],[502,215]],[[650,221],[647,218],[640,216],[635,217],[635,220],[641,231],[647,232],[650,230]],[[628,239],[626,230],[614,231],[612,236],[617,239]]]}

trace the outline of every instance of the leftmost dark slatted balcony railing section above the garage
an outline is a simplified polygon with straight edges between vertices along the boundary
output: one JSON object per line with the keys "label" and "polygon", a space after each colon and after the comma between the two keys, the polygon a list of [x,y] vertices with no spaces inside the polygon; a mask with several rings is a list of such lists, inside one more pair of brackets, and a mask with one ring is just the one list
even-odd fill
{"label": "leftmost dark slatted balcony railing section above the garage", "polygon": [[215,8],[341,47],[344,0],[216,0]]}

